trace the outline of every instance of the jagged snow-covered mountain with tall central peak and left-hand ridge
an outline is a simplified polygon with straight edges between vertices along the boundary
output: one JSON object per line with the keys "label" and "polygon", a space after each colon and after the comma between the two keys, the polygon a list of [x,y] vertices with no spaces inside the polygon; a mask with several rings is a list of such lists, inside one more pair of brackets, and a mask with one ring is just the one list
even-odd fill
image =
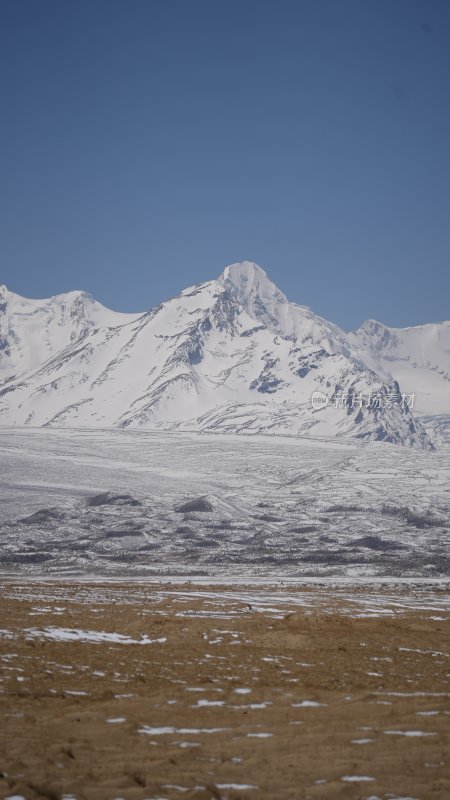
{"label": "jagged snow-covered mountain with tall central peak and left-hand ridge", "polygon": [[[290,303],[250,262],[141,315],[109,311],[83,292],[38,301],[2,287],[0,424],[351,435],[427,447],[373,324],[347,334]],[[433,352],[448,356],[445,342]]]}

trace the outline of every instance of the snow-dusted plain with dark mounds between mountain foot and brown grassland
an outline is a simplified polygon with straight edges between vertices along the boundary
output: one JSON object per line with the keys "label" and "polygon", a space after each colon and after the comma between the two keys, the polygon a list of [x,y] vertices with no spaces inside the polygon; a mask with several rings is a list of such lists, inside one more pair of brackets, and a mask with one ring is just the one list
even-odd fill
{"label": "snow-dusted plain with dark mounds between mountain foot and brown grassland", "polygon": [[450,450],[0,429],[1,568],[212,578],[445,577]]}

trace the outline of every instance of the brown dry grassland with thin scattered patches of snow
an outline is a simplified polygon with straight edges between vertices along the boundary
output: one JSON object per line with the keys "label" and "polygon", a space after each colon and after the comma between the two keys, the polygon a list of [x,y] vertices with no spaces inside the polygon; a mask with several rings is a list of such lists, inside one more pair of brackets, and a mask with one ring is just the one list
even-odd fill
{"label": "brown dry grassland with thin scattered patches of snow", "polygon": [[450,614],[410,591],[3,580],[0,797],[448,800]]}

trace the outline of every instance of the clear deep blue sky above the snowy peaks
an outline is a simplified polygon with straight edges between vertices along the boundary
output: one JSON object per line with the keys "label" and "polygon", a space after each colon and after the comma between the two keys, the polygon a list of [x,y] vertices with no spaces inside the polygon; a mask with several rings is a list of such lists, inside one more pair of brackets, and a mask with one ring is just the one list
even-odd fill
{"label": "clear deep blue sky above the snowy peaks", "polygon": [[0,283],[450,318],[448,0],[0,0]]}

